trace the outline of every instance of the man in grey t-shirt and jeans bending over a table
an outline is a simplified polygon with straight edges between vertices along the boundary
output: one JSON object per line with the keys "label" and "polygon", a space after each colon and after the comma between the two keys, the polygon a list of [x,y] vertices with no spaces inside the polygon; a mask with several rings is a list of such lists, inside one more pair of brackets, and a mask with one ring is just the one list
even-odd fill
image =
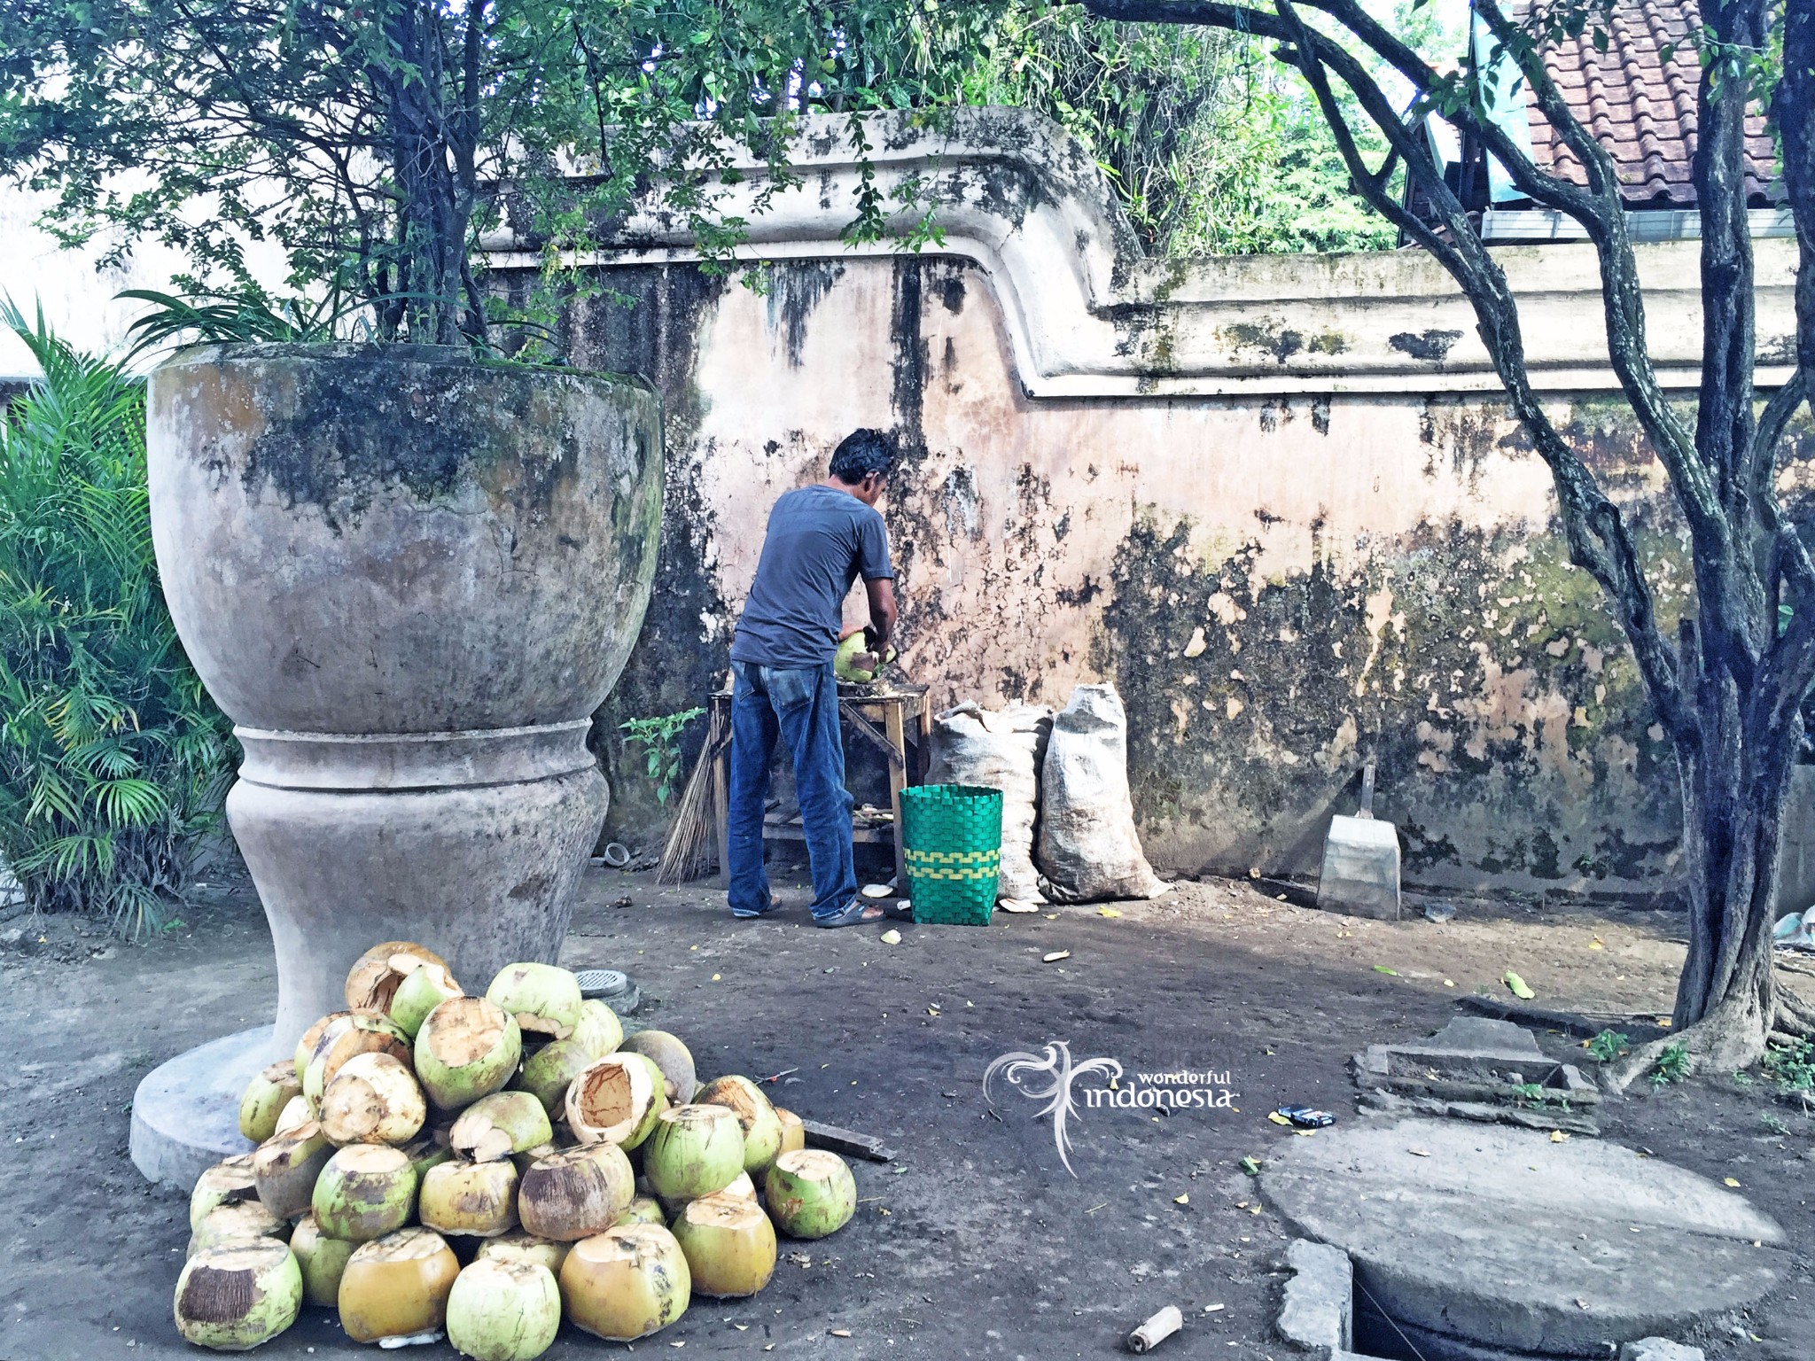
{"label": "man in grey t-shirt and jeans bending over a table", "polygon": [[895,465],[895,445],[853,430],[831,455],[831,475],[788,492],[770,512],[744,615],[731,642],[730,847],[733,916],[775,907],[762,867],[762,813],[777,740],[793,757],[800,826],[813,867],[813,922],[877,922],[882,907],[857,896],[851,795],[844,788],[839,682],[831,662],[844,597],[857,577],[869,592],[866,646],[888,655],[895,628],[895,568],[877,501]]}

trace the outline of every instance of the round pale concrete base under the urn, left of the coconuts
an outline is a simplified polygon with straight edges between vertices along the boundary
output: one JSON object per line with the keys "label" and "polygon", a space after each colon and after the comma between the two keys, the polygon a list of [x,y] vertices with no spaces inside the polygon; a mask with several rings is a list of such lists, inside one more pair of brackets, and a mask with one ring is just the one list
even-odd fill
{"label": "round pale concrete base under the urn, left of the coconuts", "polygon": [[132,1165],[147,1181],[183,1194],[221,1158],[250,1152],[240,1134],[240,1098],[274,1062],[270,1025],[211,1040],[147,1072],[132,1094]]}

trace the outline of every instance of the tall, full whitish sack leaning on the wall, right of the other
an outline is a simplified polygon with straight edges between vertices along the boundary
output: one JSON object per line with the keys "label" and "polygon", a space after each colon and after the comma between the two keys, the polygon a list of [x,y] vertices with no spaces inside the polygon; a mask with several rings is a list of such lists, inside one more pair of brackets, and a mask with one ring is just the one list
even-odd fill
{"label": "tall, full whitish sack leaning on the wall, right of the other", "polygon": [[1158,898],[1129,798],[1129,719],[1114,686],[1078,686],[1053,719],[1040,778],[1042,887],[1055,902]]}

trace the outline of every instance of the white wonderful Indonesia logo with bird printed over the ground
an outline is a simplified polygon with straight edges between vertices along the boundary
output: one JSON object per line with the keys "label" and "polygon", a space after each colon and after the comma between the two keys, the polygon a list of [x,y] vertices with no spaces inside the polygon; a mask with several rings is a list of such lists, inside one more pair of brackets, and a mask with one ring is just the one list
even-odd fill
{"label": "white wonderful Indonesia logo with bird printed over the ground", "polygon": [[1053,1120],[1053,1143],[1065,1170],[1071,1167],[1071,1132],[1084,1123],[1080,1111],[1234,1111],[1236,1092],[1227,1069],[1136,1071],[1123,1085],[1127,1069],[1116,1058],[1071,1056],[1065,1040],[1053,1040],[1038,1054],[1015,1051],[984,1069],[984,1100],[995,1109],[991,1083],[1015,1087],[1031,1102],[1045,1102],[1036,1118]]}

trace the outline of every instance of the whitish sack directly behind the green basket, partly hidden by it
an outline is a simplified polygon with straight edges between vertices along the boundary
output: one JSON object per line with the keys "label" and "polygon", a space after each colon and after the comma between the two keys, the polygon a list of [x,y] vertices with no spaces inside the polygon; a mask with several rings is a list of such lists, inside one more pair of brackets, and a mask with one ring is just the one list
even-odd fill
{"label": "whitish sack directly behind the green basket, partly hidden by it", "polygon": [[1040,757],[1053,710],[1011,704],[984,710],[958,704],[933,719],[931,784],[978,784],[1002,791],[1002,884],[998,898],[1045,902],[1033,867],[1033,829],[1040,798]]}

